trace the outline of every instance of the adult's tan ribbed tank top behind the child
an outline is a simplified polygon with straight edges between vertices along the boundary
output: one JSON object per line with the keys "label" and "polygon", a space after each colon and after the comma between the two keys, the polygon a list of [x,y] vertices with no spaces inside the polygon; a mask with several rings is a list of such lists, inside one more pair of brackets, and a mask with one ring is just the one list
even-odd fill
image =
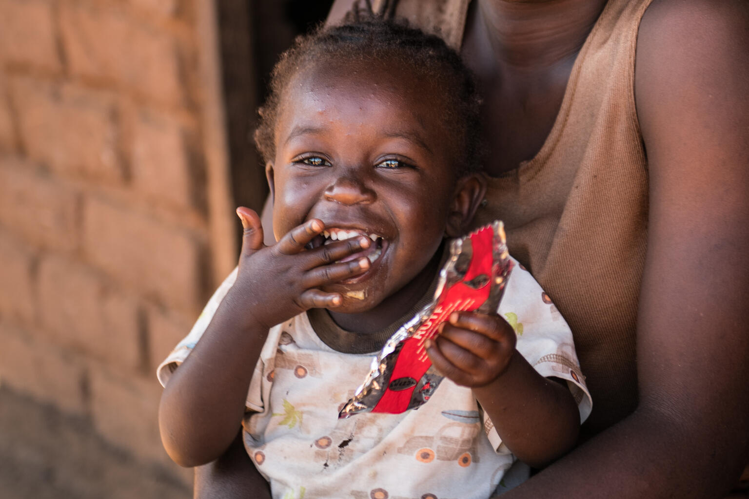
{"label": "adult's tan ribbed tank top behind the child", "polygon": [[[476,216],[476,225],[505,221],[510,251],[567,319],[593,399],[587,435],[637,404],[648,174],[634,107],[634,50],[650,1],[609,1],[577,56],[542,149],[490,179],[488,204]],[[401,0],[396,14],[459,49],[468,3]]]}

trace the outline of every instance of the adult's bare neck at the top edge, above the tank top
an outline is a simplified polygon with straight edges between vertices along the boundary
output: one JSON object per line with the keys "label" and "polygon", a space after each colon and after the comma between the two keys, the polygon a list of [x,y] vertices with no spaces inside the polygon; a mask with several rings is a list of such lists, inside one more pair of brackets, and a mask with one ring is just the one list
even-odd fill
{"label": "adult's bare neck at the top edge, above the tank top", "polygon": [[533,73],[574,59],[606,3],[474,0],[467,28],[485,40],[495,69]]}

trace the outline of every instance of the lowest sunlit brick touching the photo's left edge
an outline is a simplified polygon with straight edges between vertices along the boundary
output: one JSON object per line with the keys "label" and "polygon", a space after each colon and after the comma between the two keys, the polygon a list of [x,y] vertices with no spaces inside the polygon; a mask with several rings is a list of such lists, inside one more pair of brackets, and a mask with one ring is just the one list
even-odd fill
{"label": "lowest sunlit brick touching the photo's left edge", "polygon": [[70,352],[0,322],[0,382],[63,411],[85,414],[85,366]]}

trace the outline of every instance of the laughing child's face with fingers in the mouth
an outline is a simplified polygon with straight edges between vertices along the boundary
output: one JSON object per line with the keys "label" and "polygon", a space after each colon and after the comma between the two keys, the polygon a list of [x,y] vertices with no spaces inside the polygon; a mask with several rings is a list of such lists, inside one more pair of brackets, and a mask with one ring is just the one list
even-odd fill
{"label": "laughing child's face with fingers in the mouth", "polygon": [[336,311],[372,310],[423,282],[414,278],[443,236],[460,235],[473,214],[442,126],[448,113],[435,94],[425,79],[386,67],[312,68],[282,94],[276,156],[267,167],[276,239],[311,218],[337,239],[373,239],[357,254],[369,257],[369,270],[325,287],[343,296]]}

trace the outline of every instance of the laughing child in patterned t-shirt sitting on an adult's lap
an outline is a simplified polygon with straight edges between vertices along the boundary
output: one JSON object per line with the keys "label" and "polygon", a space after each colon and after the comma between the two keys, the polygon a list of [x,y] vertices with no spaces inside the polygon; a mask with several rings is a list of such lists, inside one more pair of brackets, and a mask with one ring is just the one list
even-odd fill
{"label": "laughing child in patterned t-shirt sitting on an adult's lap", "polygon": [[271,86],[256,141],[278,242],[237,209],[239,265],[159,370],[172,459],[213,461],[241,424],[274,498],[488,498],[512,454],[541,467],[571,449],[589,397],[567,325],[520,266],[500,306],[512,326],[453,313],[428,345],[446,376],[428,403],[338,419],[485,190],[458,55],[365,20],[297,42]]}

